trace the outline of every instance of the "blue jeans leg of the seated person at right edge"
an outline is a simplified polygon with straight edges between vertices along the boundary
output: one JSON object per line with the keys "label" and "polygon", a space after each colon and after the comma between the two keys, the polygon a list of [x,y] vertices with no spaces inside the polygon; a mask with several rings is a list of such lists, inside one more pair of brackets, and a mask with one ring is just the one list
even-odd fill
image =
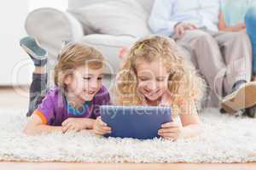
{"label": "blue jeans leg of the seated person at right edge", "polygon": [[245,16],[247,34],[253,47],[253,76],[256,76],[256,8],[249,8]]}

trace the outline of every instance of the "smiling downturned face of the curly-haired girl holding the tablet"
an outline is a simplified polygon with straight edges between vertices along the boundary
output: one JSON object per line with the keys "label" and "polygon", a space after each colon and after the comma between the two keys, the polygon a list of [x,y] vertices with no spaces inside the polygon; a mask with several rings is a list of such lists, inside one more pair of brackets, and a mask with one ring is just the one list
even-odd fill
{"label": "smiling downturned face of the curly-haired girl holding the tablet", "polygon": [[168,72],[160,60],[137,60],[138,91],[149,101],[156,101],[167,90]]}

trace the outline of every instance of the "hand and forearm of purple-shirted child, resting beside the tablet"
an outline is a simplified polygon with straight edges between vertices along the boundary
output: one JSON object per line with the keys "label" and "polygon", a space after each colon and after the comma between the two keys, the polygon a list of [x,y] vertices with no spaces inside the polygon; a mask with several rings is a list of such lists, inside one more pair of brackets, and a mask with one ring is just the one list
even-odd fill
{"label": "hand and forearm of purple-shirted child, resting beside the tablet", "polygon": [[95,121],[95,119],[90,118],[68,118],[61,125],[63,127],[63,133],[67,131],[79,132],[83,129],[92,129]]}

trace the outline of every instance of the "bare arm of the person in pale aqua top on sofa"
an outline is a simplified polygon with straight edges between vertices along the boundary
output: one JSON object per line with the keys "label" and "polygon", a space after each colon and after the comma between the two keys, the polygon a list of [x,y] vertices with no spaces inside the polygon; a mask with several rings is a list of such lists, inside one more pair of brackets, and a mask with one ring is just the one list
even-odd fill
{"label": "bare arm of the person in pale aqua top on sofa", "polygon": [[219,31],[242,31],[246,28],[245,23],[236,24],[236,26],[226,26],[224,20],[224,14],[222,12],[219,13],[218,19],[218,30]]}

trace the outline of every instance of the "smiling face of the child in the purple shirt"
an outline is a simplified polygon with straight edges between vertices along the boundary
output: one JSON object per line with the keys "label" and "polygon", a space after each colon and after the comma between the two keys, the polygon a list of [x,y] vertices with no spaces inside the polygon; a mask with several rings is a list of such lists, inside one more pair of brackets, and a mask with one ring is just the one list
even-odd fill
{"label": "smiling face of the child in the purple shirt", "polygon": [[82,101],[90,101],[102,88],[103,68],[90,69],[87,66],[79,66],[73,71],[72,76],[65,79],[67,93],[78,97]]}

